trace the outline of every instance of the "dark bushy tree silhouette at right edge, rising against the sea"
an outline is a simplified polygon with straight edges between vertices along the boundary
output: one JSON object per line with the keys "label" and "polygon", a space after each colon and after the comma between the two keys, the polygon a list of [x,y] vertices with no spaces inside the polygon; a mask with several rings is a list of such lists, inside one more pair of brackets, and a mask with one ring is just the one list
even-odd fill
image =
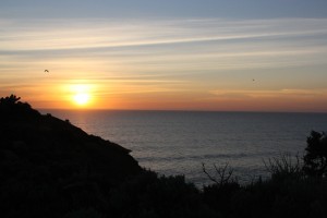
{"label": "dark bushy tree silhouette at right edge, rising against the sea", "polygon": [[306,140],[303,170],[307,175],[323,178],[327,175],[326,133],[312,131]]}

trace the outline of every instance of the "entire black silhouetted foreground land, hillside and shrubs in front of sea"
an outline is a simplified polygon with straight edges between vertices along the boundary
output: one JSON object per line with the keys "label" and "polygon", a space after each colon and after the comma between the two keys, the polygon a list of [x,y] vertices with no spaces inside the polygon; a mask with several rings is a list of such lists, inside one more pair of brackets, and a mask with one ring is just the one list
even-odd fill
{"label": "entire black silhouetted foreground land, hillside and shrubs in front of sea", "polygon": [[[305,156],[266,161],[270,178],[241,185],[226,165],[198,190],[183,175],[142,169],[130,150],[0,99],[0,216],[327,217],[327,140],[312,132]],[[303,161],[302,161],[303,160]]]}

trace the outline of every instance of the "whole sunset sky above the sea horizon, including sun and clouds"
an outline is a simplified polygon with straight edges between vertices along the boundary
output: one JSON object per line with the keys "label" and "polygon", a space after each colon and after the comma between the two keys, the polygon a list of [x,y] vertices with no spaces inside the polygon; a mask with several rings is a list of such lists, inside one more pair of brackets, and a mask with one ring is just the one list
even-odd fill
{"label": "whole sunset sky above the sea horizon, including sun and clouds", "polygon": [[326,0],[0,1],[34,108],[327,112],[326,70]]}

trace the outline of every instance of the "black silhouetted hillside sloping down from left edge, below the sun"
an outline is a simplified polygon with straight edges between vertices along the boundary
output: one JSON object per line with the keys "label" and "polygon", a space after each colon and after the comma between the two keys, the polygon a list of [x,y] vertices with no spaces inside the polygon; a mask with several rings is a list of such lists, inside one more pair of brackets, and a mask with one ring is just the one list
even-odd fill
{"label": "black silhouetted hillside sloping down from left edge, below the sun", "polygon": [[19,100],[0,100],[1,217],[96,207],[105,191],[143,171],[129,149]]}

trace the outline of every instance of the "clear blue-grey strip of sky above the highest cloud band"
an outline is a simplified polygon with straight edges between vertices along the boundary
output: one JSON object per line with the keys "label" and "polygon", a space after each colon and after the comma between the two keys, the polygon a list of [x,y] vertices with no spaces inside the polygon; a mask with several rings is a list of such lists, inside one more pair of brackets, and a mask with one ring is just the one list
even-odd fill
{"label": "clear blue-grey strip of sky above the highest cloud band", "polygon": [[325,0],[1,0],[7,17],[326,17]]}

